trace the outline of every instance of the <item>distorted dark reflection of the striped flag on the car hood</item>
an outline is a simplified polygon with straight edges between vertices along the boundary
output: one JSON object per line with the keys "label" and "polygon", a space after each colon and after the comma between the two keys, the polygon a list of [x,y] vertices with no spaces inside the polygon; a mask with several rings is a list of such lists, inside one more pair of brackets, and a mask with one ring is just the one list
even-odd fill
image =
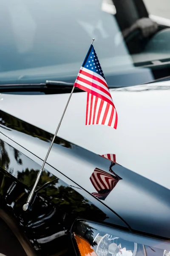
{"label": "distorted dark reflection of the striped flag on the car hood", "polygon": [[114,172],[113,174],[114,175],[111,175],[99,168],[95,168],[90,180],[97,193],[94,192],[92,195],[101,200],[105,200],[119,180],[122,180],[122,178],[116,175]]}

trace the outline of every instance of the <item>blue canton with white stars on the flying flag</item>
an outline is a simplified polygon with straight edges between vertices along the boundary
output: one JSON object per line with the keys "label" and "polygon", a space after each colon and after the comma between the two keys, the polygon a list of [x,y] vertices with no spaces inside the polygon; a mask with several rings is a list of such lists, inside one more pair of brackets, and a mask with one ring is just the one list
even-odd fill
{"label": "blue canton with white stars on the flying flag", "polygon": [[90,46],[88,50],[88,54],[85,57],[85,60],[82,64],[82,67],[87,68],[88,70],[91,70],[100,76],[102,76],[105,79],[105,76],[103,74],[102,68],[100,66],[99,60],[97,58],[96,52],[94,50],[93,45]]}

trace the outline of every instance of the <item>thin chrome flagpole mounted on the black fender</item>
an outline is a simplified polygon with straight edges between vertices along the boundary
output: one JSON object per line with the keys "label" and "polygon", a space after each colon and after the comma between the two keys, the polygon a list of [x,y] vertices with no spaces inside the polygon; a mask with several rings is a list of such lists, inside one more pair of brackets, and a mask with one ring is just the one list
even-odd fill
{"label": "thin chrome flagpole mounted on the black fender", "polygon": [[[94,40],[95,40],[95,39],[93,38],[91,44],[93,44]],[[53,145],[53,143],[54,143],[55,137],[57,136],[57,133],[58,133],[59,127],[60,127],[60,125],[61,125],[62,119],[63,119],[63,117],[64,117],[64,115],[65,115],[65,111],[66,111],[66,109],[67,109],[67,107],[68,107],[68,103],[70,102],[71,96],[72,96],[72,94],[73,94],[73,92],[74,92],[74,88],[75,88],[75,87],[73,86],[73,88],[72,88],[72,90],[71,90],[71,93],[70,93],[70,96],[69,96],[69,98],[68,98],[68,102],[67,102],[67,104],[66,104],[66,106],[65,106],[65,109],[64,109],[64,111],[63,111],[63,113],[62,113],[62,117],[61,117],[61,119],[60,119],[60,121],[59,121],[59,124],[58,124],[58,126],[57,126],[57,130],[56,130],[56,132],[55,132],[55,134],[54,134],[54,137],[53,137],[53,139],[52,139],[52,141],[51,141],[51,145],[50,145],[50,147],[49,147],[49,149],[48,149],[48,152],[47,152],[47,154],[46,154],[46,157],[45,157],[45,159],[44,159],[44,162],[42,163],[41,169],[40,169],[40,171],[39,171],[38,174],[37,174],[37,178],[36,178],[36,180],[35,180],[34,186],[33,186],[33,188],[31,189],[30,194],[28,195],[28,199],[27,199],[27,201],[26,201],[26,204],[23,205],[23,210],[24,210],[24,211],[28,210],[29,204],[31,203],[31,200],[32,200],[32,198],[33,198],[33,196],[34,196],[35,189],[36,189],[37,184],[38,184],[38,182],[39,182],[39,180],[40,180],[40,177],[41,177],[41,175],[42,175],[43,168],[44,168],[44,166],[45,166],[45,163],[46,163],[46,160],[47,160],[47,158],[48,158],[48,155],[50,154],[50,151],[51,151],[52,145]]]}

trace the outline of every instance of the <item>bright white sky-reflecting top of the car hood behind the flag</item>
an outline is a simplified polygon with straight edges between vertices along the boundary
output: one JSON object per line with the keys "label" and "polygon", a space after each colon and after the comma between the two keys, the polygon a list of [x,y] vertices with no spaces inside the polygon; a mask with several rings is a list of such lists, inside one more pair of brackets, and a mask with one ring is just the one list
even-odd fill
{"label": "bright white sky-reflecting top of the car hood behind the flag", "polygon": [[[170,189],[169,89],[169,81],[111,89],[118,113],[116,131],[85,126],[86,93],[74,93],[58,136],[96,154],[116,154],[117,163]],[[0,109],[54,134],[68,96],[1,94]],[[13,136],[24,146],[17,134]],[[39,152],[42,158],[46,150]]]}

